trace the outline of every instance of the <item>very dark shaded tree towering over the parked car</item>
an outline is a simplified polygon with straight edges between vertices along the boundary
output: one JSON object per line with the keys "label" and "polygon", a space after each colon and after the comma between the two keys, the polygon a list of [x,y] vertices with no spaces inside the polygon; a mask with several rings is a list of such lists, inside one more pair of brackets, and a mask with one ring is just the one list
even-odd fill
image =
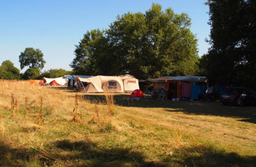
{"label": "very dark shaded tree towering over the parked car", "polygon": [[256,1],[208,0],[211,48],[201,63],[210,82],[254,87]]}

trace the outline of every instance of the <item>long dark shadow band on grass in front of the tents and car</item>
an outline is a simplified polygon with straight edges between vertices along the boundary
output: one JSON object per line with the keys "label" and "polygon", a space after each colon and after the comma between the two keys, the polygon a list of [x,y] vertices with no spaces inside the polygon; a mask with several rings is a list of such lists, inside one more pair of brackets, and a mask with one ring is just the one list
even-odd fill
{"label": "long dark shadow band on grass in front of the tents and car", "polygon": [[[226,116],[226,117],[241,117],[241,121],[255,123],[256,122],[256,107],[245,106],[224,106],[220,102],[189,102],[171,100],[156,100],[156,99],[140,99],[127,100],[130,94],[114,94],[115,105],[124,107],[141,107],[141,108],[164,108],[168,112],[183,112],[189,115],[212,115],[212,116]],[[80,95],[81,99],[88,99],[90,101],[98,101],[105,103],[106,98],[103,93],[99,94],[85,94]]]}

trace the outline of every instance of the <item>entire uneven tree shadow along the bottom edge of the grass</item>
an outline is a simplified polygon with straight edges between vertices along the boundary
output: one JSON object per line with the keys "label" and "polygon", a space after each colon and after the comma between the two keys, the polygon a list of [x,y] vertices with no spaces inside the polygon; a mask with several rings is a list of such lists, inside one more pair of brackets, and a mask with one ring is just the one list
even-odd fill
{"label": "entire uneven tree shadow along the bottom edge of the grass", "polygon": [[98,147],[90,141],[56,141],[47,148],[17,149],[0,142],[0,166],[29,166],[36,160],[38,166],[72,167],[254,167],[256,156],[240,156],[199,145],[178,148],[172,155],[164,154],[157,162],[147,162],[143,153],[129,148]]}

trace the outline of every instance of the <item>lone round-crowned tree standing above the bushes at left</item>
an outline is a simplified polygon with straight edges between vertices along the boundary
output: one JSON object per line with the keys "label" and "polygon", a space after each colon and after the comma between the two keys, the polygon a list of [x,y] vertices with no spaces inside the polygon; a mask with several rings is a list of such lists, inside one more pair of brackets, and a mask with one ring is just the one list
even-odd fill
{"label": "lone round-crowned tree standing above the bushes at left", "polygon": [[43,53],[39,49],[34,50],[34,48],[26,48],[24,52],[20,52],[19,62],[20,69],[28,66],[29,68],[44,68],[46,61],[43,59]]}

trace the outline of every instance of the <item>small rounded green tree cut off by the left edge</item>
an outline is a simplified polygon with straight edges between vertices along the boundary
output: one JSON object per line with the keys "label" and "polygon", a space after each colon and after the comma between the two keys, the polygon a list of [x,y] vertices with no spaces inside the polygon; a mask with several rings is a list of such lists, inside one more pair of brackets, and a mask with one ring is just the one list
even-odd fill
{"label": "small rounded green tree cut off by the left edge", "polygon": [[3,61],[0,66],[0,79],[20,79],[20,70],[10,60]]}

